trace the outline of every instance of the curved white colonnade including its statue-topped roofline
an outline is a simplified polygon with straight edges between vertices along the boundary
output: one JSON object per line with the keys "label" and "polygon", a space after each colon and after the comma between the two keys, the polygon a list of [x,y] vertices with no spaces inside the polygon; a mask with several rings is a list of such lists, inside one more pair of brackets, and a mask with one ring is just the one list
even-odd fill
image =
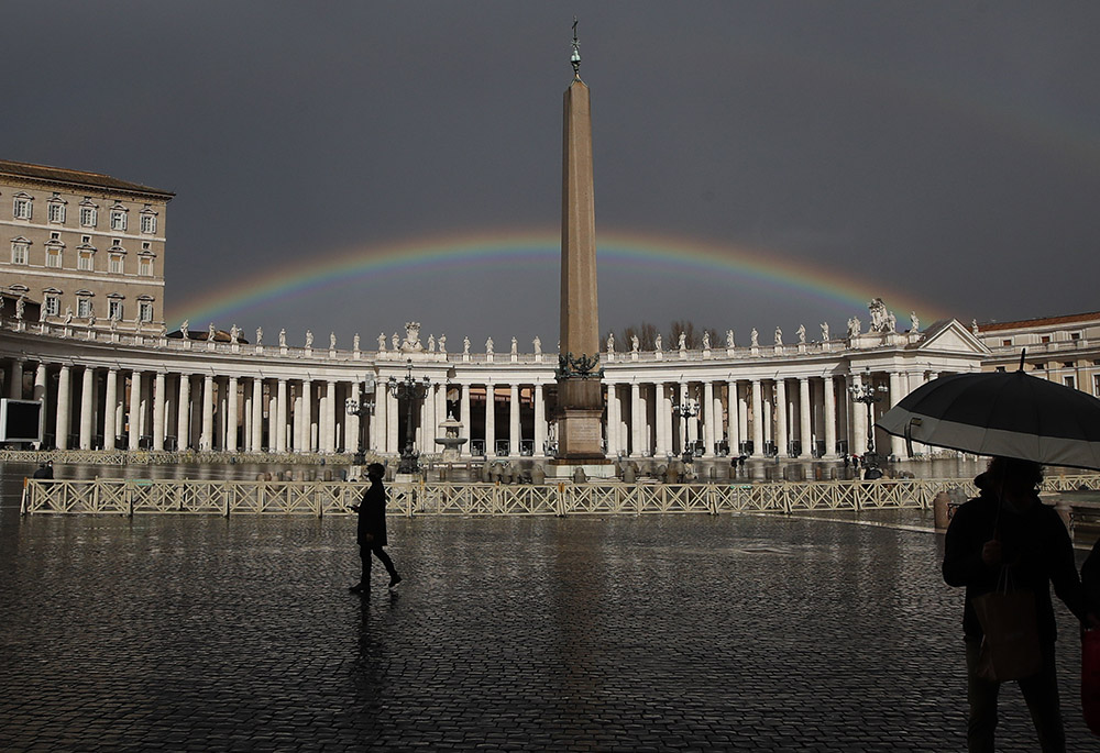
{"label": "curved white colonnade including its statue-topped roofline", "polygon": [[[407,440],[436,453],[449,416],[461,421],[463,457],[552,455],[557,353],[448,353],[404,342],[363,351],[330,343],[169,339],[86,322],[0,321],[3,395],[41,399],[45,444],[58,449],[184,450],[396,456]],[[798,458],[862,454],[882,411],[939,375],[980,370],[990,353],[955,320],[923,332],[689,351],[602,354],[603,441],[612,457],[664,458],[691,451]],[[427,379],[415,405],[391,378]],[[854,399],[878,388],[870,406]],[[349,401],[373,402],[362,414]],[[879,432],[880,453],[906,449]],[[916,446],[914,454],[927,449]]]}

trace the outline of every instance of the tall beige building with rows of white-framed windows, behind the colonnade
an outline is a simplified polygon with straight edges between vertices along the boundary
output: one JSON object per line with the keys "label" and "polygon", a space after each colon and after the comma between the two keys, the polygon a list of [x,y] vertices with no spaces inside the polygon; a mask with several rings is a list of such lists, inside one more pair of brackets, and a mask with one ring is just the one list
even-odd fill
{"label": "tall beige building with rows of white-framed windows, behind the colonnade", "polygon": [[97,173],[0,160],[0,285],[42,321],[164,328],[173,193]]}

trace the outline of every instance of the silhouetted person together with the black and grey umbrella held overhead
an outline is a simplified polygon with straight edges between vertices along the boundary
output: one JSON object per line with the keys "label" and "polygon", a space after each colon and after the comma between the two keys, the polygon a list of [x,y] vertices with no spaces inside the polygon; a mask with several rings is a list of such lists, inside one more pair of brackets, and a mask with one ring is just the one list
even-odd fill
{"label": "silhouetted person together with the black and grey umbrella held overhead", "polygon": [[1079,620],[1087,611],[1069,532],[1036,490],[1041,464],[1100,468],[1100,400],[1031,376],[1025,361],[1021,353],[1015,372],[934,379],[877,422],[906,444],[993,457],[975,479],[980,494],[959,507],[947,529],[943,564],[944,579],[966,587],[971,751],[993,750],[997,695],[1005,679],[1019,680],[1042,750],[1065,750],[1050,585]]}

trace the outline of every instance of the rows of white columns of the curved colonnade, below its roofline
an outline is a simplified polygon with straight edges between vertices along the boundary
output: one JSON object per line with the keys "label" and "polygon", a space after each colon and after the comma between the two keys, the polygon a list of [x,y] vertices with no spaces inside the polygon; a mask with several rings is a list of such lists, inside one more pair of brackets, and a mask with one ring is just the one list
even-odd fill
{"label": "rows of white columns of the curved colonnade, below its roofline", "polygon": [[[25,376],[32,372],[33,381]],[[610,457],[666,457],[685,450],[703,457],[861,454],[868,416],[853,391],[865,384],[880,388],[877,417],[937,375],[912,369],[647,381],[619,372],[604,380],[606,452]],[[346,400],[370,390],[373,377],[365,375],[222,376],[13,358],[6,376],[9,397],[44,400],[45,434],[58,449],[396,455],[408,418],[408,406],[387,389],[373,396],[373,412],[361,418],[345,411]],[[497,381],[475,374],[427,385],[425,398],[413,406],[415,446],[436,452],[439,424],[452,416],[462,423],[464,456],[543,455],[552,440],[548,394],[552,400],[554,383],[552,373],[535,376]],[[879,452],[906,452],[899,438],[889,439],[889,450],[884,435],[877,439]]]}

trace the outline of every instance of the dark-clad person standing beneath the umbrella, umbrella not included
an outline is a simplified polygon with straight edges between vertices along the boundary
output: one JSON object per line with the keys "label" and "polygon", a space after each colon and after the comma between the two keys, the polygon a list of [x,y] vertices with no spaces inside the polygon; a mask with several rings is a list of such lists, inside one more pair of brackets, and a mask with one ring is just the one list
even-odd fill
{"label": "dark-clad person standing beneath the umbrella, umbrella not included", "polygon": [[966,586],[963,632],[966,638],[967,744],[970,751],[992,751],[997,729],[997,695],[1001,683],[979,674],[985,631],[974,599],[998,589],[1002,571],[1014,589],[1035,595],[1036,631],[1043,666],[1016,680],[1038,734],[1043,751],[1065,751],[1066,733],[1055,676],[1056,638],[1050,584],[1069,610],[1085,619],[1081,583],[1074,562],[1074,545],[1053,507],[1043,505],[1036,488],[1043,480],[1038,463],[994,457],[989,470],[975,478],[980,494],[960,506],[947,529],[944,580]]}

